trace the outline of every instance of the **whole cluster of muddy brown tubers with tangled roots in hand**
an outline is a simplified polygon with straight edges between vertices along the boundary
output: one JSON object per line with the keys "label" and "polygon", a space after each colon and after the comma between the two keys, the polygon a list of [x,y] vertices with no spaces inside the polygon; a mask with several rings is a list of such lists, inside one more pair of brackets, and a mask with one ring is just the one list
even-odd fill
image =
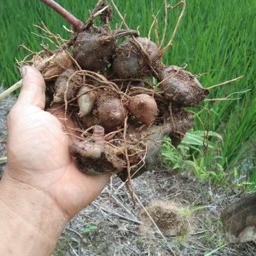
{"label": "whole cluster of muddy brown tubers with tangled roots in hand", "polygon": [[112,13],[100,0],[69,41],[53,52],[42,45],[29,63],[45,79],[45,110],[62,104],[76,124],[70,149],[79,169],[126,181],[159,162],[164,136],[178,146],[194,126],[185,107],[198,106],[209,91],[192,73],[165,66],[159,45],[138,31],[111,31]]}

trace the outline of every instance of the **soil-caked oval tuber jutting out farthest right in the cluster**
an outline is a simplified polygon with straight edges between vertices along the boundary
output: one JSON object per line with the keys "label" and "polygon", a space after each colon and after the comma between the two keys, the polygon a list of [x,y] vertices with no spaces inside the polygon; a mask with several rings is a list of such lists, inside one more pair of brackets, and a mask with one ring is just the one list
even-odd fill
{"label": "soil-caked oval tuber jutting out farthest right in the cluster", "polygon": [[198,106],[210,93],[192,73],[178,66],[164,68],[159,74],[159,81],[162,81],[161,87],[166,99],[182,106]]}

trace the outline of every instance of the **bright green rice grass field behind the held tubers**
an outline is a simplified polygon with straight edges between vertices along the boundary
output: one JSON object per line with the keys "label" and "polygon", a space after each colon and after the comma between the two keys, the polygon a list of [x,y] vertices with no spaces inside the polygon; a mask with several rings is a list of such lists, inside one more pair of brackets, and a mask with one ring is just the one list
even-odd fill
{"label": "bright green rice grass field behind the held tubers", "polygon": [[[80,20],[87,20],[88,9],[93,9],[97,1],[69,0],[58,1]],[[170,0],[175,5],[178,1]],[[78,4],[79,3],[79,4]],[[127,24],[131,29],[139,25],[141,36],[148,36],[152,17],[157,14],[158,34],[161,38],[164,29],[164,1],[115,0],[123,15],[127,14]],[[181,6],[169,10],[166,38],[169,41]],[[209,87],[225,80],[244,76],[241,80],[211,90],[209,98],[226,97],[233,92],[252,91],[232,96],[241,97],[234,101],[205,101],[202,106],[211,113],[211,131],[223,136],[225,143],[221,150],[208,150],[204,157],[206,169],[214,169],[220,164],[224,171],[238,170],[246,172],[248,180],[256,182],[255,171],[255,124],[256,124],[256,1],[200,1],[187,0],[185,15],[180,22],[173,46],[164,55],[164,63],[184,66],[192,73],[208,73],[199,78],[204,87]],[[15,58],[22,59],[26,52],[17,51],[17,46],[24,43],[31,50],[41,50],[40,43],[47,43],[44,38],[34,36],[31,32],[41,34],[33,24],[41,21],[55,34],[69,38],[62,25],[70,27],[62,17],[44,6],[39,0],[3,1],[0,8],[0,83],[10,87],[20,74],[15,68]],[[120,18],[115,13],[113,25]],[[155,35],[152,34],[152,40]],[[200,118],[207,125],[206,111],[200,112]],[[201,130],[199,121],[195,130]],[[213,141],[214,142],[214,141]],[[190,155],[197,152],[190,150]],[[190,157],[192,159],[192,157]],[[218,170],[215,170],[218,173]]]}

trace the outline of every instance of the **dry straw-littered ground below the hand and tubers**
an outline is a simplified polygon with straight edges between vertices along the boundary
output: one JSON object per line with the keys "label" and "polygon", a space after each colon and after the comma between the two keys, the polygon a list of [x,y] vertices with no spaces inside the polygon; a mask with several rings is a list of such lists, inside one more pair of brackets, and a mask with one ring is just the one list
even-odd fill
{"label": "dry straw-littered ground below the hand and tubers", "polygon": [[[0,102],[0,157],[6,156],[6,116],[15,99]],[[0,163],[0,172],[5,166]],[[222,208],[244,194],[164,166],[133,184],[136,206],[113,176],[99,198],[66,225],[52,256],[256,255],[255,243],[229,243],[220,221]]]}

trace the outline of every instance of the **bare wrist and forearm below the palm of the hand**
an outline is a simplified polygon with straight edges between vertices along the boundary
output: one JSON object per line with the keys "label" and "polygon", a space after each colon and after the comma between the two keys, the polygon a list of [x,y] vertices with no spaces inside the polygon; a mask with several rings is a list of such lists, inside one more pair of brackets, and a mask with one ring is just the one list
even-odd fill
{"label": "bare wrist and forearm below the palm of the hand", "polygon": [[8,175],[0,181],[0,208],[0,255],[50,255],[69,221],[49,194]]}

